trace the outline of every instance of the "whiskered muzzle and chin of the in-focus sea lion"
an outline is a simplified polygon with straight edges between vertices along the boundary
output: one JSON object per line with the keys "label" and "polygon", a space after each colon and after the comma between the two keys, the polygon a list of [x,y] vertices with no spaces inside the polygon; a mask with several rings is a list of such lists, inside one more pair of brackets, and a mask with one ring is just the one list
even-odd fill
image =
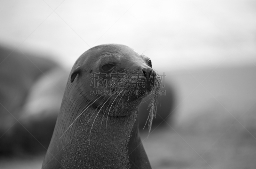
{"label": "whiskered muzzle and chin of the in-focus sea lion", "polygon": [[[122,73],[116,73],[121,77]],[[140,75],[139,78],[134,78],[134,74]],[[150,70],[149,74],[144,72],[132,72],[126,74],[125,78],[116,81],[106,75],[106,84],[104,87],[98,87],[92,90],[91,96],[95,101],[92,106],[96,110],[100,110],[107,116],[127,116],[133,110],[138,109],[142,99],[148,95],[151,97],[151,112],[155,114],[157,104],[157,91],[160,90],[160,79],[154,70]],[[119,83],[118,83],[119,82]],[[103,85],[100,84],[100,85]]]}

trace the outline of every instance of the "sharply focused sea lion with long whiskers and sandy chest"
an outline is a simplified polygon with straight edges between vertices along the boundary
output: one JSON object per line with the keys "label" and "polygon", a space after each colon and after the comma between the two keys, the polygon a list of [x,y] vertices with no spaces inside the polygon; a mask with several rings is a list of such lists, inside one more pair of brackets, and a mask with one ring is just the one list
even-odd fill
{"label": "sharply focused sea lion with long whiskers and sandy chest", "polygon": [[[134,78],[136,73],[140,77]],[[151,168],[137,113],[159,84],[151,60],[128,46],[105,44],[85,51],[69,75],[42,168]],[[125,95],[125,90],[135,94]],[[149,126],[157,99],[151,96]]]}

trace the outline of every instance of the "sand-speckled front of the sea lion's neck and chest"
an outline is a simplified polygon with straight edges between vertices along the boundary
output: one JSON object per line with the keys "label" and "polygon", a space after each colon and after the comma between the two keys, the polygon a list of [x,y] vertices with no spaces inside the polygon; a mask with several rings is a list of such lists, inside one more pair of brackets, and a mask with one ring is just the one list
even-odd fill
{"label": "sand-speckled front of the sea lion's neck and chest", "polygon": [[63,152],[62,167],[90,168],[93,164],[93,168],[130,168],[128,144],[136,113],[107,117],[89,108]]}

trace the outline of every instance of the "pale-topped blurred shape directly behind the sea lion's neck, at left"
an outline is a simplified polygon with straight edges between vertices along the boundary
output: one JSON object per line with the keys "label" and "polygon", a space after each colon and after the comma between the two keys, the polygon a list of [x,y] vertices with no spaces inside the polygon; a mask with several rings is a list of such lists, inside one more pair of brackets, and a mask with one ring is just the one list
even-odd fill
{"label": "pale-topped blurred shape directly behind the sea lion's neck, at left", "polygon": [[48,148],[68,75],[69,71],[55,67],[41,75],[32,86],[21,110],[24,115],[20,118],[28,131],[21,127],[19,133],[29,132],[21,136],[27,142],[22,145],[26,151],[44,152]]}

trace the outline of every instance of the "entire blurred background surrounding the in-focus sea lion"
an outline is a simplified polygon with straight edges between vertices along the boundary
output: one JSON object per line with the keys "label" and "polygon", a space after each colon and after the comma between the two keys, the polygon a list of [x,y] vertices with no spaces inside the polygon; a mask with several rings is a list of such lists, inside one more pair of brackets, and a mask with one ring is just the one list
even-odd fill
{"label": "entire blurred background surrounding the in-focus sea lion", "polygon": [[152,168],[256,168],[255,0],[2,0],[1,169],[41,168],[71,67],[104,43],[166,75]]}

